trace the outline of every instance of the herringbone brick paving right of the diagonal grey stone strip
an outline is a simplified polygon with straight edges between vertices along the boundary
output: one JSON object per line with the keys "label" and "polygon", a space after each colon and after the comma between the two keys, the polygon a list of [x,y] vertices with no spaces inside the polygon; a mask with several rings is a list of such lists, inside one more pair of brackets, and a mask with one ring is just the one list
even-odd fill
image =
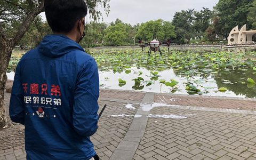
{"label": "herringbone brick paving right of the diagonal grey stone strip", "polygon": [[149,118],[134,159],[256,158],[256,116],[158,107]]}

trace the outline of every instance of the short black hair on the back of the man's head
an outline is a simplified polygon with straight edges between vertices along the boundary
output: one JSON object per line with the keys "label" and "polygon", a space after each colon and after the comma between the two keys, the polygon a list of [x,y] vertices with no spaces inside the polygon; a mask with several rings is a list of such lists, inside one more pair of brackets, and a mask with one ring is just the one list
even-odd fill
{"label": "short black hair on the back of the man's head", "polygon": [[87,5],[84,0],[45,0],[44,10],[53,32],[69,33],[87,14]]}

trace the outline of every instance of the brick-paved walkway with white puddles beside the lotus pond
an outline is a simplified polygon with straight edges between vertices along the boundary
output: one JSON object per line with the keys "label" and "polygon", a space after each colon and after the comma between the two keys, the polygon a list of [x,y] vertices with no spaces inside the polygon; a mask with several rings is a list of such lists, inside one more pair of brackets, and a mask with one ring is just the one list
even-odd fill
{"label": "brick-paved walkway with white puddles beside the lotus pond", "polygon": [[[91,138],[101,159],[256,159],[255,99],[101,90],[105,103]],[[0,160],[26,159],[24,128],[8,122]]]}

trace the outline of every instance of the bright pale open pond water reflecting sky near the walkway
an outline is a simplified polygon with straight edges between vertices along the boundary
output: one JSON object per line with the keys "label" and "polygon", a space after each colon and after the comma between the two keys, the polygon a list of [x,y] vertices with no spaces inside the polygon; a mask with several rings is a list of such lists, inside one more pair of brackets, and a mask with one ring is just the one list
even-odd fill
{"label": "bright pale open pond water reflecting sky near the walkway", "polygon": [[[139,71],[142,71],[141,77],[145,81],[151,81],[150,71],[145,68],[137,69],[135,67],[131,68],[132,73],[125,74],[125,73],[116,73],[113,74],[113,72],[106,72],[106,71],[100,71],[99,77],[100,77],[100,84],[101,88],[104,89],[119,89],[119,90],[134,90],[132,89],[132,86],[134,86],[134,81],[132,79],[137,78],[139,75]],[[218,84],[217,81],[215,81],[214,77],[207,76],[204,79],[199,76],[194,76],[193,78],[187,79],[186,77],[175,75],[173,69],[160,71],[158,73],[160,76],[158,79],[175,79],[179,83],[175,86],[177,87],[177,91],[175,93],[177,94],[188,94],[186,91],[186,83],[193,82],[194,85],[200,89],[201,91],[209,91],[209,93],[204,93],[204,95],[212,95],[212,96],[228,96],[228,97],[245,97],[243,94],[236,94],[232,91],[226,91],[225,93],[221,93],[218,91]],[[121,78],[126,81],[126,84],[124,86],[119,86],[118,79]],[[223,82],[226,79],[222,79]],[[229,82],[226,80],[226,82]],[[141,86],[143,86],[142,91],[147,92],[158,92],[158,93],[171,93],[172,87],[166,86],[165,84],[159,84],[158,81],[153,81],[153,84],[150,86],[146,86],[146,82],[141,82]],[[139,90],[139,89],[138,89]],[[256,94],[256,93],[255,93]]]}

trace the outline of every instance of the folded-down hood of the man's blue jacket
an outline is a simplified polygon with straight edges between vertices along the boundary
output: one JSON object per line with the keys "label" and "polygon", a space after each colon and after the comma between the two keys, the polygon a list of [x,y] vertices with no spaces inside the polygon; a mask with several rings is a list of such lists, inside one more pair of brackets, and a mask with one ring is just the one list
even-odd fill
{"label": "folded-down hood of the man's blue jacket", "polygon": [[38,45],[39,52],[50,58],[61,57],[62,55],[84,49],[75,41],[65,35],[46,35]]}

